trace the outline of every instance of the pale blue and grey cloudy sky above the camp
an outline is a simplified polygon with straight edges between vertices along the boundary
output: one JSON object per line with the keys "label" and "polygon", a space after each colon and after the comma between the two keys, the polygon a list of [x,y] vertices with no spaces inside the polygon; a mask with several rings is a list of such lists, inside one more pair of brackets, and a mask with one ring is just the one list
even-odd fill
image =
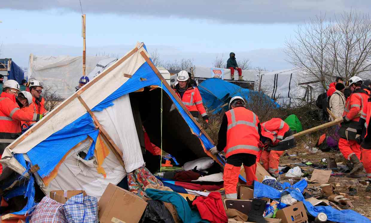
{"label": "pale blue and grey cloudy sky above the camp", "polygon": [[[193,58],[211,66],[216,54],[236,53],[254,67],[290,68],[282,52],[298,24],[319,13],[368,13],[371,0],[81,0],[88,55],[122,56],[137,41],[162,60]],[[1,56],[27,66],[35,55],[81,55],[79,0],[2,1]]]}

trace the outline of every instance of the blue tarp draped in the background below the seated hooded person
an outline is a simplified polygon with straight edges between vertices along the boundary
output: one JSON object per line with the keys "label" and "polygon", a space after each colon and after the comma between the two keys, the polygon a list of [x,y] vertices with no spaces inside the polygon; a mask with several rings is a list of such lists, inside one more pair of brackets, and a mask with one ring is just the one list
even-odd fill
{"label": "blue tarp draped in the background below the seated hooded person", "polygon": [[279,107],[272,98],[261,92],[245,89],[219,78],[209,78],[202,81],[201,84],[198,85],[198,90],[200,90],[204,106],[209,110],[214,110],[212,114],[226,111],[228,106],[224,108],[221,108],[221,106],[225,103],[229,103],[230,98],[234,96],[241,96],[249,102],[253,94],[262,94],[263,98],[266,98],[266,103],[272,104],[274,107]]}

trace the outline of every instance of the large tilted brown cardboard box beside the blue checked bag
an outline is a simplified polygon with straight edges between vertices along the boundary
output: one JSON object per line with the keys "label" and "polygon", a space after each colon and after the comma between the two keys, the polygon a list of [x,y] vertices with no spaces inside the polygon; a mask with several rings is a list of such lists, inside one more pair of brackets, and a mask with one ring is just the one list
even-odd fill
{"label": "large tilted brown cardboard box beside the blue checked bag", "polygon": [[100,223],[138,223],[147,207],[147,202],[109,183],[98,205]]}

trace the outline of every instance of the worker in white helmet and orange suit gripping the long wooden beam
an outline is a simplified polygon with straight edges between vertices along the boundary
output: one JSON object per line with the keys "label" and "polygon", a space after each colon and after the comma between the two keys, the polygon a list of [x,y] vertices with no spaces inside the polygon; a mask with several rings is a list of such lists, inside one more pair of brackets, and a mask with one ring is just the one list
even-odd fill
{"label": "worker in white helmet and orange suit gripping the long wooden beam", "polygon": [[[361,119],[366,119],[363,107],[367,103],[368,94],[361,88],[361,86],[361,78],[351,77],[349,79],[349,89],[352,91],[352,94],[347,98],[343,113],[344,122],[341,123],[341,127],[338,131],[340,136],[339,150],[343,154],[344,158],[351,161],[354,166],[347,175],[348,177],[357,177],[355,174],[363,170],[363,165],[359,161],[361,157],[361,148],[359,143],[362,127],[364,126],[362,125]],[[361,117],[355,118],[358,113],[361,113]]]}

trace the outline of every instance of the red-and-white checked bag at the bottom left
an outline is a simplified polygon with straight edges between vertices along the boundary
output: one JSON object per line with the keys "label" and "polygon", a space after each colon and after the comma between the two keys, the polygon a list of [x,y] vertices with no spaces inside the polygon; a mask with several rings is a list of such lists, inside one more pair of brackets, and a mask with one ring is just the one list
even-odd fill
{"label": "red-and-white checked bag at the bottom left", "polygon": [[30,223],[67,223],[63,204],[45,196],[31,214]]}

